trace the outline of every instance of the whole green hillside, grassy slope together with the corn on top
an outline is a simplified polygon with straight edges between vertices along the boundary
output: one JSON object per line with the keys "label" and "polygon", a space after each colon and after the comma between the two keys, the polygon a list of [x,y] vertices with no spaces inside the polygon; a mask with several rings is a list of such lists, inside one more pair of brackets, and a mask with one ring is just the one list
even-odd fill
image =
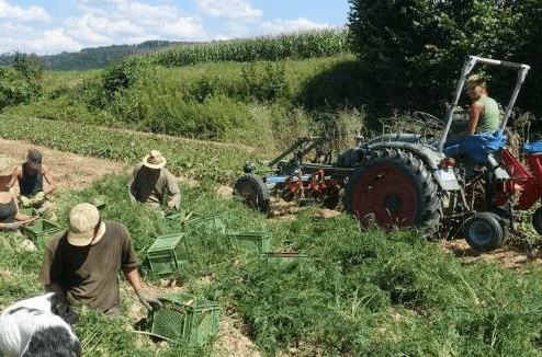
{"label": "whole green hillside, grassy slope together with the corn on top", "polygon": [[[342,68],[355,62],[345,42],[343,33],[323,32],[183,46],[111,61],[100,70],[25,77],[8,69],[0,73],[0,108],[3,102],[3,114],[240,142],[262,151],[282,149],[276,142],[284,146],[308,133],[342,139],[363,125],[357,81],[328,80],[337,70],[342,71],[337,78],[347,78]],[[269,55],[279,47],[284,54]],[[197,48],[203,54],[193,55]],[[187,56],[196,59],[185,64]]]}

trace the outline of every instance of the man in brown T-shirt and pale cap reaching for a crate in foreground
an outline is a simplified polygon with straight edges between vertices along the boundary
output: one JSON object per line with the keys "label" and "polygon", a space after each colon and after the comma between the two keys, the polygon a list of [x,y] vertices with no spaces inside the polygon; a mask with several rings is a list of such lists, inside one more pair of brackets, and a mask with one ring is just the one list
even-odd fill
{"label": "man in brown T-shirt and pale cap reaching for a crate in foreground", "polygon": [[128,230],[121,223],[103,221],[95,206],[80,204],[70,211],[69,229],[49,241],[39,281],[70,303],[115,314],[120,312],[122,269],[139,301],[149,310],[159,308],[159,300],[145,295],[137,265]]}

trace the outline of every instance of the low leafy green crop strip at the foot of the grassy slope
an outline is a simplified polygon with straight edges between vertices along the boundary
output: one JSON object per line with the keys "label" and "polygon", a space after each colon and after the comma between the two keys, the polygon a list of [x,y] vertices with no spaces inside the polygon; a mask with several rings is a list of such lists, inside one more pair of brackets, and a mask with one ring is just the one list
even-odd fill
{"label": "low leafy green crop strip at the foot of the grassy slope", "polygon": [[0,137],[127,163],[157,149],[168,159],[173,173],[225,183],[240,173],[247,160],[255,159],[251,150],[240,146],[13,115],[0,115]]}

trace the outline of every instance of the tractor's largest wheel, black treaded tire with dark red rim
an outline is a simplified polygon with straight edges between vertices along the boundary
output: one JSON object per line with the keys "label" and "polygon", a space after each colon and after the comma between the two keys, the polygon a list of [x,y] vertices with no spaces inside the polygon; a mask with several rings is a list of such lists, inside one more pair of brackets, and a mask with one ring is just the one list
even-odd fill
{"label": "tractor's largest wheel, black treaded tire with dark red rim", "polygon": [[368,217],[383,229],[428,227],[439,219],[438,186],[413,153],[385,148],[365,158],[349,177],[345,209],[360,222]]}

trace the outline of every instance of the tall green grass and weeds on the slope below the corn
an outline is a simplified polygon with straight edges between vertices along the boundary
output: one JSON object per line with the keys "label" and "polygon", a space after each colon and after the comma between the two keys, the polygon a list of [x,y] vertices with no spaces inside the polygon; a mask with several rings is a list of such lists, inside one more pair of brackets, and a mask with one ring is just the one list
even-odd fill
{"label": "tall green grass and weeds on the slope below the corn", "polygon": [[[352,115],[351,108],[327,107],[319,115],[293,102],[312,78],[352,60],[351,55],[181,68],[128,59],[121,66],[112,64],[111,69],[82,71],[81,80],[72,72],[46,72],[41,100],[3,113],[239,142],[270,156],[296,135],[326,131],[329,126],[321,125],[323,117],[328,124],[348,125],[346,130],[363,120],[363,113]],[[118,85],[125,77],[136,80],[127,88]],[[346,117],[355,120],[342,120]]]}

